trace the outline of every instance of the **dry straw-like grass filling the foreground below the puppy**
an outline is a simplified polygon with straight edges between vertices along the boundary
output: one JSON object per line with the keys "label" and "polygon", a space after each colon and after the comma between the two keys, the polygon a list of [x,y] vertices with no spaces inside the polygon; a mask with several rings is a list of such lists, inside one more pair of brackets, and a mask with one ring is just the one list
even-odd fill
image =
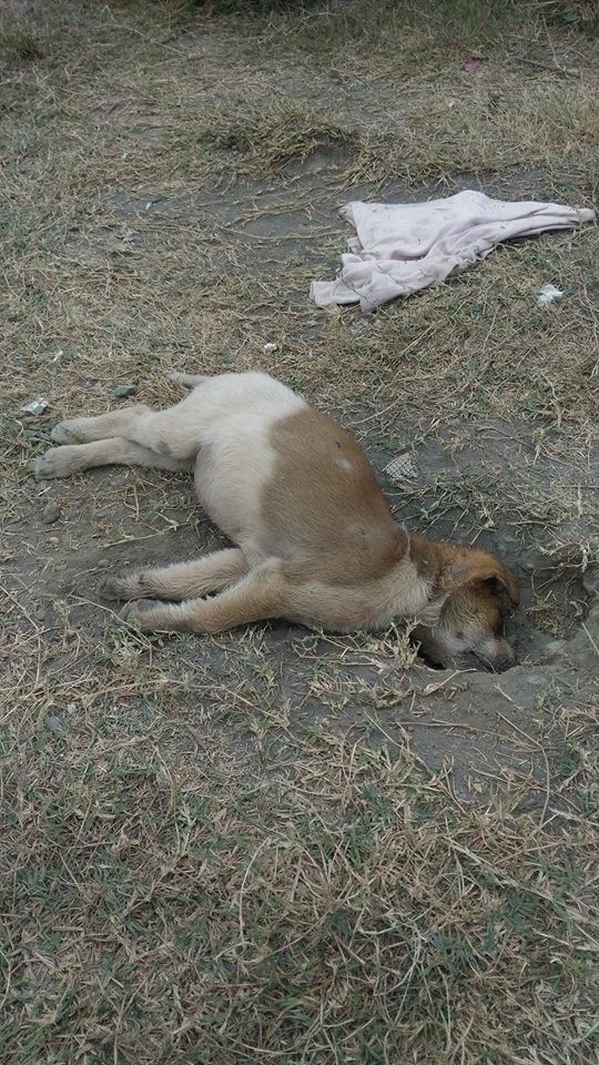
{"label": "dry straw-like grass filling the foreground below the puppy", "polygon": [[539,820],[527,780],[480,809],[407,733],[392,757],[375,709],[369,736],[300,743],[280,713],[260,773],[223,728],[243,689],[211,700],[128,635],[112,690],[85,656],[67,696],[49,662],[32,690],[29,637],[7,678],[3,1061],[593,1059],[590,706],[555,722]]}

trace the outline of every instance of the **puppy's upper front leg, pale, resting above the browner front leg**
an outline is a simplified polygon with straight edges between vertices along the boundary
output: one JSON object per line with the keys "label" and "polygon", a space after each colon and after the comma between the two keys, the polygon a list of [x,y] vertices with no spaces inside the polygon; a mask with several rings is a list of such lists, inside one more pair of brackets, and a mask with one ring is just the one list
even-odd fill
{"label": "puppy's upper front leg, pale, resting above the browner front leg", "polygon": [[109,577],[101,588],[106,599],[195,599],[226,588],[248,571],[243,551],[229,548],[191,562],[175,562],[160,569],[142,569],[123,577]]}

